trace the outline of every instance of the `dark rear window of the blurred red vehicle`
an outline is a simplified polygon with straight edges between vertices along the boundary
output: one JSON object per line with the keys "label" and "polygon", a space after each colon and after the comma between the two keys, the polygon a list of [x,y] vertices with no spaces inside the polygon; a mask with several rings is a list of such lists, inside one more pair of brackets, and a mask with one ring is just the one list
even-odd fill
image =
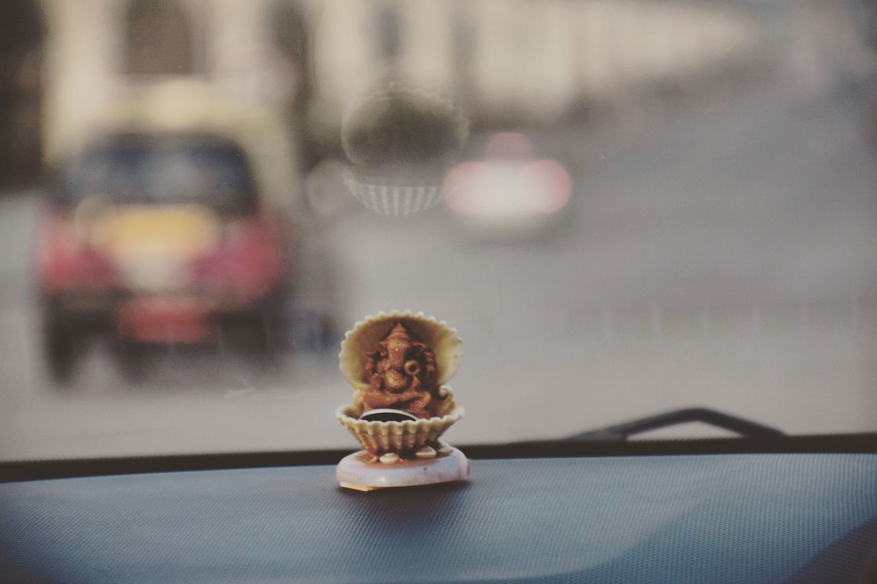
{"label": "dark rear window of the blurred red vehicle", "polygon": [[254,190],[239,147],[119,140],[90,148],[65,167],[61,202],[103,195],[118,204],[196,203],[246,213],[253,210]]}

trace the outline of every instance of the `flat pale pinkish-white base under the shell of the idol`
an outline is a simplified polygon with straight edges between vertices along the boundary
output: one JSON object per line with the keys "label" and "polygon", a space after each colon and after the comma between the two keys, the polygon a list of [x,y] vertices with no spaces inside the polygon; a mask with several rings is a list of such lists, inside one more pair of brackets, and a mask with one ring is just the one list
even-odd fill
{"label": "flat pale pinkish-white base under the shell of the idol", "polygon": [[434,459],[400,459],[393,464],[371,460],[374,457],[364,450],[348,454],[335,468],[335,478],[344,488],[373,491],[465,481],[469,476],[469,460],[453,447],[445,456]]}

